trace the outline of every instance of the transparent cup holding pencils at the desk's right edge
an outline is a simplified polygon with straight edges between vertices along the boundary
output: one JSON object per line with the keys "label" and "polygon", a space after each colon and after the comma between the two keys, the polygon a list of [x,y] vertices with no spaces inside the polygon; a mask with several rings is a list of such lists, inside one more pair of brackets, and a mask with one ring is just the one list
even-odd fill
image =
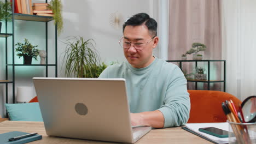
{"label": "transparent cup holding pencils at the desk's right edge", "polygon": [[253,144],[256,143],[255,123],[229,122],[229,143]]}

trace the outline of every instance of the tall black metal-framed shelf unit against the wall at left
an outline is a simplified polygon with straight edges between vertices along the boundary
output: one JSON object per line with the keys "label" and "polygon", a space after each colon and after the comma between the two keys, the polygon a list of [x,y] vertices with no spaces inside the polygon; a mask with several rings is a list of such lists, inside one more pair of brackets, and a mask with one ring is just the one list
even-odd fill
{"label": "tall black metal-framed shelf unit against the wall at left", "polygon": [[[7,2],[7,0],[5,0]],[[47,3],[47,0],[45,1]],[[48,64],[48,55],[46,55],[46,64],[15,64],[15,31],[14,25],[16,20],[22,21],[37,21],[37,22],[45,22],[45,51],[48,53],[48,22],[53,20],[51,16],[38,16],[38,15],[28,15],[28,14],[18,14],[14,13],[14,5],[15,1],[12,3],[13,7],[13,17],[12,17],[12,33],[0,33],[0,38],[5,38],[5,80],[0,80],[0,83],[5,83],[5,103],[9,103],[8,101],[8,84],[13,85],[12,95],[13,95],[13,103],[16,103],[15,100],[15,67],[20,66],[40,66],[45,67],[45,77],[48,77],[48,67],[55,67],[55,77],[57,77],[57,26],[55,25],[55,63]],[[7,32],[8,26],[7,22],[5,22],[5,32]],[[12,59],[11,63],[8,63],[8,37],[12,37]],[[54,47],[53,47],[54,49]],[[12,67],[12,80],[8,78],[8,67]]]}

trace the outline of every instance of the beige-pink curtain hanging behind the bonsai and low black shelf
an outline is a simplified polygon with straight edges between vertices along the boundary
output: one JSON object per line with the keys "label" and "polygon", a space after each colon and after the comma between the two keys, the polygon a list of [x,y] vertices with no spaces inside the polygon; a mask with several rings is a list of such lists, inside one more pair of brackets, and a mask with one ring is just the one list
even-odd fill
{"label": "beige-pink curtain hanging behind the bonsai and low black shelf", "polygon": [[[191,48],[192,43],[206,45],[203,59],[222,59],[222,29],[220,0],[170,0],[169,8],[169,48],[168,59],[178,60]],[[192,55],[187,55],[192,59]],[[200,65],[201,64],[201,65]],[[214,63],[211,68],[211,80],[223,79],[222,63]],[[207,63],[199,63],[207,69]],[[195,73],[192,63],[184,63],[185,73]],[[193,83],[188,89],[193,89]],[[205,83],[203,87],[207,87]],[[205,89],[205,88],[203,88]],[[211,89],[222,90],[220,83],[211,85]]]}

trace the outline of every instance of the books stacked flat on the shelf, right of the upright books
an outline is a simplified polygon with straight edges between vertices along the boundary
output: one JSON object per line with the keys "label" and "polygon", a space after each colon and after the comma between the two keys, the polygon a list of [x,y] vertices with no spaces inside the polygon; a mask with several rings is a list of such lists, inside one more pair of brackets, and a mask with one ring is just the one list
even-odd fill
{"label": "books stacked flat on the shelf, right of the upright books", "polygon": [[49,8],[48,3],[33,3],[33,13],[42,16],[53,16],[53,10]]}

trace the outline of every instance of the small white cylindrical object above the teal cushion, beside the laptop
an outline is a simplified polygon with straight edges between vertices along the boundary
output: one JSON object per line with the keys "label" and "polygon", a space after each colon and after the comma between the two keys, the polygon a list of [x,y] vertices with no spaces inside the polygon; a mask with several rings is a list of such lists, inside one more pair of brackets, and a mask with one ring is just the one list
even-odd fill
{"label": "small white cylindrical object above the teal cushion, beside the laptop", "polygon": [[17,103],[28,103],[33,98],[32,87],[17,87]]}

